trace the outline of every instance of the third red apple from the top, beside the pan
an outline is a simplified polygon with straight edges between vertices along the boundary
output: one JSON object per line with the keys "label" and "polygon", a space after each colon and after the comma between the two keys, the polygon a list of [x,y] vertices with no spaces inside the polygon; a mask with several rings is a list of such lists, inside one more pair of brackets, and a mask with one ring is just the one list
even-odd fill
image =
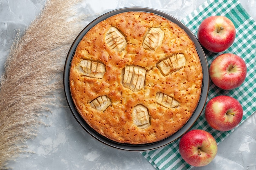
{"label": "third red apple from the top, beside the pan", "polygon": [[242,118],[243,107],[238,100],[230,96],[213,97],[205,107],[205,119],[216,130],[231,130]]}

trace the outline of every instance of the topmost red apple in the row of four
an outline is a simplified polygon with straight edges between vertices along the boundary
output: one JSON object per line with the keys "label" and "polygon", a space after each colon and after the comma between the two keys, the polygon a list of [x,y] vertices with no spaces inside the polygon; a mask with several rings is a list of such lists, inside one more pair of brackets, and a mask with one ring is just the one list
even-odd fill
{"label": "topmost red apple in the row of four", "polygon": [[198,28],[198,41],[207,50],[218,53],[228,49],[236,38],[236,28],[225,16],[210,16]]}

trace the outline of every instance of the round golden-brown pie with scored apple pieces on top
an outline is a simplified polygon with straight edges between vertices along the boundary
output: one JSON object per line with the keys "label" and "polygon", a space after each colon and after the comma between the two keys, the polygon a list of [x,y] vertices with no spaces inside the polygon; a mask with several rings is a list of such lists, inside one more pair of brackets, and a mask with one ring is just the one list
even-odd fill
{"label": "round golden-brown pie with scored apple pieces on top", "polygon": [[79,114],[119,143],[146,144],[177,132],[200,99],[202,66],[183,29],[153,13],[126,12],[85,34],[70,66]]}

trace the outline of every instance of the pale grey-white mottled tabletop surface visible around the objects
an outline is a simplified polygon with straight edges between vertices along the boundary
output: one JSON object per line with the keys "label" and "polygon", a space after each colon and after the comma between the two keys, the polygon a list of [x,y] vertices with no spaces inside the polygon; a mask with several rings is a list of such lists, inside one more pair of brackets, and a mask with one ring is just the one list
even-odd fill
{"label": "pale grey-white mottled tabletop surface visible around the objects", "polygon": [[[151,7],[182,20],[205,0],[84,0],[81,11],[88,23],[97,16],[121,7]],[[240,0],[256,20],[256,0]],[[44,7],[45,0],[0,0],[0,74],[18,32],[29,26]],[[64,97],[64,94],[63,96]],[[64,104],[66,104],[64,102]],[[139,152],[111,148],[88,135],[69,108],[54,107],[43,118],[37,137],[27,141],[34,152],[9,161],[14,170],[155,170]],[[247,119],[218,146],[216,158],[193,170],[256,170],[256,114]]]}

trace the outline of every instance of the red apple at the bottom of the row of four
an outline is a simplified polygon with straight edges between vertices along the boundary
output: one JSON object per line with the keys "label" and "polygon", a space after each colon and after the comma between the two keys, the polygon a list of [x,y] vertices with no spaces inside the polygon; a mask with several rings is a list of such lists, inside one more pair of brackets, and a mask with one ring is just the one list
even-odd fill
{"label": "red apple at the bottom of the row of four", "polygon": [[217,154],[218,146],[213,136],[200,129],[187,132],[180,139],[180,155],[192,166],[206,166]]}

